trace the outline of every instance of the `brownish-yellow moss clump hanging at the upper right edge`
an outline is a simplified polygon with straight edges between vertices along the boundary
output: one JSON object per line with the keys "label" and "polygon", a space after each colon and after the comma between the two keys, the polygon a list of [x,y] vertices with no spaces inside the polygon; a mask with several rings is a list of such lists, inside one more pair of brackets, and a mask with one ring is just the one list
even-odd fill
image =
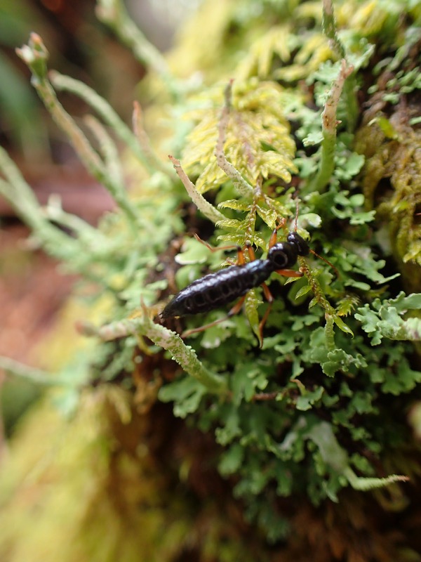
{"label": "brownish-yellow moss clump hanging at the upper right edge", "polygon": [[370,87],[368,109],[356,133],[356,150],[366,157],[366,206],[376,210],[378,223],[385,226],[410,291],[421,286],[419,50],[420,37],[410,27],[394,56],[377,64],[377,81]]}

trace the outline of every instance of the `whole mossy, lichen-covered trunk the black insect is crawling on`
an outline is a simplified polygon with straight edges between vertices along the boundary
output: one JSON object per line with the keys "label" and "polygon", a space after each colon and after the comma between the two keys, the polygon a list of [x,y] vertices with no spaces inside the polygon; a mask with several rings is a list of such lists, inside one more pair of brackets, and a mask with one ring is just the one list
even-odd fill
{"label": "whole mossy, lichen-covered trunk the black insect is crawling on", "polygon": [[[40,209],[0,153],[0,192],[98,287],[79,322],[91,339],[56,377],[2,360],[57,387],[59,412],[46,398],[3,466],[1,559],[420,560],[421,9],[205,2],[164,60],[119,3],[99,4],[149,67],[134,133],[48,75],[39,37],[20,56],[119,210],[93,229]],[[113,136],[91,119],[93,148],[60,90]],[[273,230],[311,234],[316,255],[292,283],[270,277],[263,330],[258,287],[235,317],[162,325],[170,294],[224,260],[193,233],[265,259]]]}

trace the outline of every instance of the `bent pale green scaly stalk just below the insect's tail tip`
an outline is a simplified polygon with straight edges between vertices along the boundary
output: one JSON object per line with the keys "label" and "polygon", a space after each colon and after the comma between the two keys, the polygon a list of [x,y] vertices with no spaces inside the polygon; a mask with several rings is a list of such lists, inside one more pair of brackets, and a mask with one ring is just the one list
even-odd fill
{"label": "bent pale green scaly stalk just below the insect's tail tip", "polygon": [[112,322],[98,329],[98,336],[109,341],[129,334],[141,334],[152,340],[157,346],[169,351],[173,360],[197,381],[206,386],[209,392],[227,394],[227,381],[218,374],[210,372],[197,358],[196,352],[186,346],[178,334],[153,322],[145,308],[142,318]]}

